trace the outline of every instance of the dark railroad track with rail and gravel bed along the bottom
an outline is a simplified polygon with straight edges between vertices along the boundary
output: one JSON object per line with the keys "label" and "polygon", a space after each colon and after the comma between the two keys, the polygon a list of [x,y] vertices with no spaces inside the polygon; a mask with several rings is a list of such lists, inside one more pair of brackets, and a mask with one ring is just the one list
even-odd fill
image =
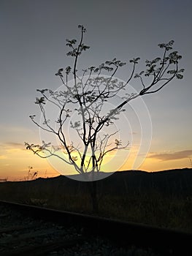
{"label": "dark railroad track with rail and gravel bed along the bottom", "polygon": [[0,255],[192,255],[192,234],[0,201]]}

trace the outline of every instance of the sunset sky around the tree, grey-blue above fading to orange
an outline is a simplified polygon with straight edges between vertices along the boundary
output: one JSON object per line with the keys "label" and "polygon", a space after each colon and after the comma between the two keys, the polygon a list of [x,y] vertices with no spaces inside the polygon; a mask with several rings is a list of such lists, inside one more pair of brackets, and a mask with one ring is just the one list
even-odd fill
{"label": "sunset sky around the tree, grey-blue above fading to orange", "polygon": [[[27,151],[24,142],[40,142],[39,129],[28,117],[39,113],[36,90],[61,86],[54,74],[72,64],[66,56],[66,39],[79,38],[78,24],[87,29],[85,44],[91,46],[79,69],[115,57],[128,63],[139,56],[142,65],[161,56],[158,43],[174,40],[174,50],[183,56],[184,79],[136,100],[132,106],[136,117],[131,120],[131,107],[127,109],[124,118],[131,132],[123,120],[118,128],[132,144],[128,158],[127,152],[119,152],[116,159],[122,159],[119,170],[191,167],[191,17],[191,0],[0,0],[0,178],[26,178],[28,166],[38,176],[60,175],[46,159]],[[126,80],[128,67],[118,78]],[[130,85],[137,88],[137,81]],[[66,165],[64,170],[69,174]]]}

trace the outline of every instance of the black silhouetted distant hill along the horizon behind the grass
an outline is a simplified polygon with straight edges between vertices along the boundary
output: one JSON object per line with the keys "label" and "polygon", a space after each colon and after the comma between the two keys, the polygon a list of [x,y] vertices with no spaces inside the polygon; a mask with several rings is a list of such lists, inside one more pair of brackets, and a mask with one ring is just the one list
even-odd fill
{"label": "black silhouetted distant hill along the horizon behind the grass", "polygon": [[[187,197],[192,195],[192,168],[151,173],[142,170],[117,171],[107,178],[93,182],[97,183],[100,192],[110,195],[161,192],[170,196]],[[42,194],[46,189],[59,194],[87,193],[86,183],[88,181],[76,181],[66,176],[37,178],[34,181],[7,181],[0,184],[0,198],[3,199],[8,192],[17,193],[18,190],[25,191],[26,188],[38,190]]]}

